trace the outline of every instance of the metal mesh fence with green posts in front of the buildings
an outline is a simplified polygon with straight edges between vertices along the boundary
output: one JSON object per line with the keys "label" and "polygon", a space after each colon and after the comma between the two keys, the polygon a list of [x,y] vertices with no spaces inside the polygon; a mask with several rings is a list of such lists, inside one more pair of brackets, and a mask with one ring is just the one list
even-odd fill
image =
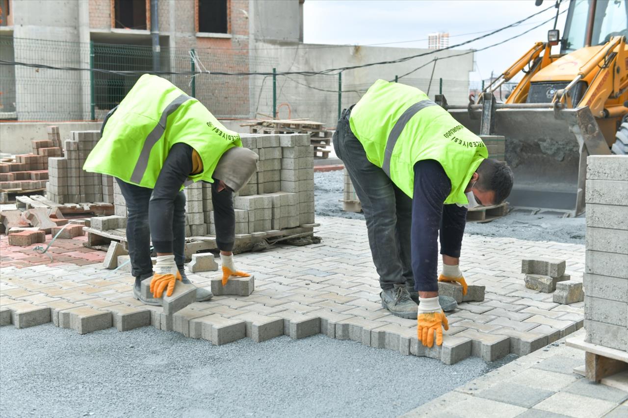
{"label": "metal mesh fence with green posts in front of the buildings", "polygon": [[[196,60],[192,60],[195,54]],[[0,36],[0,59],[69,69],[0,65],[0,119],[18,121],[101,120],[129,92],[141,73],[153,70],[153,51],[146,45],[72,43]],[[160,67],[177,87],[202,102],[216,117],[251,119],[308,118],[335,126],[338,110],[357,102],[374,80],[352,80],[342,75],[218,75],[215,72],[272,73],[277,58],[251,56],[242,50],[190,50],[162,47]],[[200,68],[199,68],[200,67]],[[135,71],[133,75],[95,70]],[[446,95],[448,102],[466,104],[470,83],[461,80],[403,78],[431,97]],[[499,99],[499,95],[498,95]],[[504,98],[505,99],[505,98]]]}

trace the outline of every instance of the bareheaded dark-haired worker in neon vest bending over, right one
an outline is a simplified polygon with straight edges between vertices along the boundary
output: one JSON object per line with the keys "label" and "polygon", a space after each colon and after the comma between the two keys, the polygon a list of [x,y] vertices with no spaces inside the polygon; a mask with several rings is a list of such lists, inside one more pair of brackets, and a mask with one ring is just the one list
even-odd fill
{"label": "bareheaded dark-haired worker in neon vest bending over, right one", "polygon": [[443,309],[457,304],[438,297],[438,281],[467,292],[458,267],[467,208],[504,201],[511,169],[487,158],[482,139],[421,90],[384,80],[342,112],[333,146],[362,203],[382,306],[417,318],[423,345],[434,333],[440,345],[441,327],[449,328]]}

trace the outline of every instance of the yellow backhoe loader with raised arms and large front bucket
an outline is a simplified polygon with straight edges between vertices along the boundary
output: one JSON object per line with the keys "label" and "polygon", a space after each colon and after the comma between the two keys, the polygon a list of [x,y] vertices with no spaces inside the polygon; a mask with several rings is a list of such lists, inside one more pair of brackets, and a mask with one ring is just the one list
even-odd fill
{"label": "yellow backhoe loader with raised arms and large front bucket", "polygon": [[[448,105],[442,95],[436,102],[476,134],[506,137],[515,175],[511,205],[580,215],[587,156],[628,154],[628,2],[571,0],[562,38],[556,20],[548,41],[536,43],[468,106]],[[559,43],[560,53],[551,54]],[[498,103],[493,92],[520,72],[521,81]]]}

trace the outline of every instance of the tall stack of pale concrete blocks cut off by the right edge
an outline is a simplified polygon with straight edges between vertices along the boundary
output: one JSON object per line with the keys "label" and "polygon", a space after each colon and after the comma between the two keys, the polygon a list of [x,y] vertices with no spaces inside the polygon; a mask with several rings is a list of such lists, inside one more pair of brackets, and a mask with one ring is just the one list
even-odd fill
{"label": "tall stack of pale concrete blocks cut off by the right edge", "polygon": [[628,157],[587,158],[586,340],[628,351]]}

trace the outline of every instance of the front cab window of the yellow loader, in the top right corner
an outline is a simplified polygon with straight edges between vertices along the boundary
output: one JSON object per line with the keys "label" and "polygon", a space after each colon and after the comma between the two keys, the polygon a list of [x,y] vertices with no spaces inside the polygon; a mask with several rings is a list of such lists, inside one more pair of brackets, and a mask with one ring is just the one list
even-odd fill
{"label": "front cab window of the yellow loader, in the top right corner", "polygon": [[628,36],[628,8],[624,0],[598,0],[595,6],[592,45],[607,43],[612,36]]}

